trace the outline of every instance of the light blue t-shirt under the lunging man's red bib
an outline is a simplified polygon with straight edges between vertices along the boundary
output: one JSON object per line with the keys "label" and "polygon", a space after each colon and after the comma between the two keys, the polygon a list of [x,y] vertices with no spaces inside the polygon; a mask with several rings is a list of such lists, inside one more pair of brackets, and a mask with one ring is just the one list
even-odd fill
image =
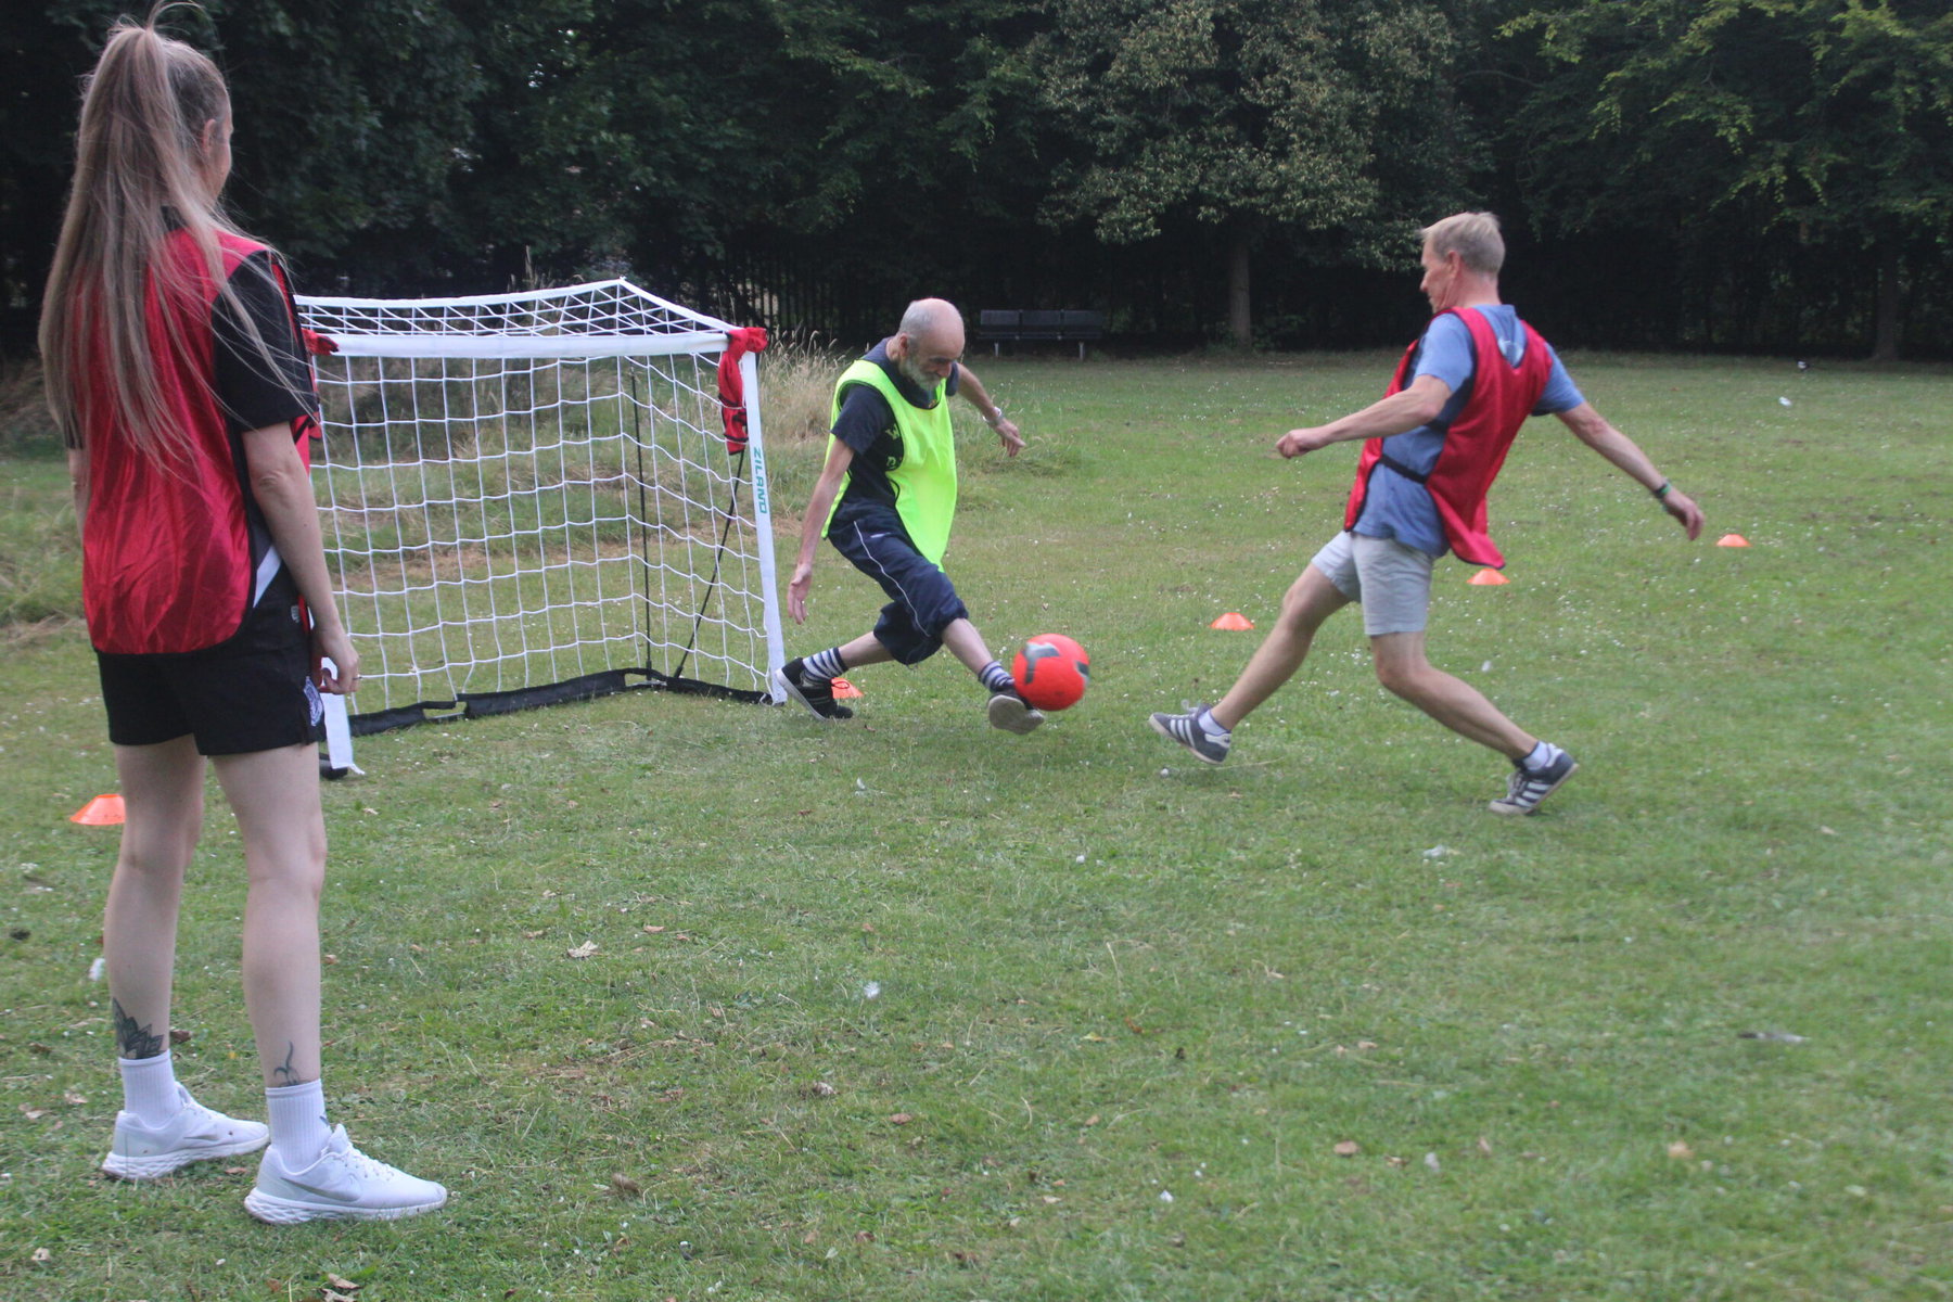
{"label": "light blue t-shirt under the lunging man's red bib", "polygon": [[[1519,365],[1525,357],[1525,330],[1519,328],[1517,308],[1498,303],[1467,310],[1482,314],[1492,324],[1498,349],[1506,353],[1506,361]],[[1547,387],[1541,390],[1539,402],[1533,406],[1533,416],[1570,412],[1586,402],[1551,344],[1547,344],[1547,353],[1553,357],[1553,369],[1547,375]],[[1391,435],[1383,441],[1383,451],[1418,474],[1430,474],[1432,467],[1437,465],[1437,455],[1445,447],[1445,431],[1451,429],[1451,422],[1457,420],[1459,412],[1471,400],[1471,328],[1455,314],[1445,312],[1432,318],[1432,324],[1426,326],[1424,338],[1418,340],[1418,353],[1410,365],[1410,379],[1420,375],[1441,379],[1451,387],[1451,396],[1445,400],[1445,408],[1437,412],[1437,420]],[[1363,498],[1363,513],[1355,521],[1355,533],[1396,539],[1404,547],[1416,547],[1434,556],[1443,556],[1451,550],[1430,490],[1387,465],[1379,465],[1369,478],[1369,494]]]}

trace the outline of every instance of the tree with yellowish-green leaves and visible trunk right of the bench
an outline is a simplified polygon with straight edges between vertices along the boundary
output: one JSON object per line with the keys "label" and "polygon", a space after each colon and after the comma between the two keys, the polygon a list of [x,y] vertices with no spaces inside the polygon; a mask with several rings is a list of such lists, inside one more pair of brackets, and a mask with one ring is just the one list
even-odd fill
{"label": "tree with yellowish-green leaves and visible trunk right of the bench", "polygon": [[1451,23],[1420,0],[1055,0],[1037,59],[1078,150],[1047,217],[1129,244],[1223,236],[1228,334],[1252,342],[1252,258],[1312,234],[1400,256],[1410,213],[1455,189]]}

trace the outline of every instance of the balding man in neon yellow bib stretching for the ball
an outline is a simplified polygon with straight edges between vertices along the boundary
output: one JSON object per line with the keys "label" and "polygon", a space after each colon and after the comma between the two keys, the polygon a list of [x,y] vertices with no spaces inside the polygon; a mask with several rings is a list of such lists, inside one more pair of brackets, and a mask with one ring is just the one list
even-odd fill
{"label": "balding man in neon yellow bib stretching for the ball", "polygon": [[801,552],[787,584],[787,613],[807,623],[814,550],[834,550],[881,584],[889,603],[871,632],[795,658],[773,685],[818,718],[850,718],[834,679],[861,666],[920,664],[947,646],[988,695],[990,726],[1031,732],[1045,720],[984,646],[969,609],[943,574],[957,513],[957,449],[949,398],[967,398],[1012,457],[1018,426],[963,365],[963,314],[943,299],[918,299],[900,328],[848,367],[834,385],[828,459],[801,525]]}

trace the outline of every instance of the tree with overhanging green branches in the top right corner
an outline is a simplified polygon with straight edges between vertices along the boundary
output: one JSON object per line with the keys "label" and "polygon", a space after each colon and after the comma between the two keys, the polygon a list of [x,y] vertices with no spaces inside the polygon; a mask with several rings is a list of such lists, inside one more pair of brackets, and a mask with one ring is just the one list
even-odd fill
{"label": "tree with overhanging green branches in the top right corner", "polygon": [[1867,258],[1875,357],[1908,256],[1953,230],[1953,12],[1939,0],[1621,0],[1535,8],[1525,174],[1564,230],[1682,226]]}

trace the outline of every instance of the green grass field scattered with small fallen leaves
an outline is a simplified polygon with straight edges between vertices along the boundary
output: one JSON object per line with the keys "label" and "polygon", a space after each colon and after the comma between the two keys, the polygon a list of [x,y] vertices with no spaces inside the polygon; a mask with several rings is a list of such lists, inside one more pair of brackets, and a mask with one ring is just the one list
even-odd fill
{"label": "green grass field scattered with small fallen leaves", "polygon": [[[1582,773],[1498,820],[1502,761],[1385,697],[1353,615],[1225,767],[1144,728],[1336,525],[1355,449],[1273,437],[1389,361],[978,359],[1031,447],[967,443],[949,568],[994,644],[1094,654],[1031,738],[941,658],[857,673],[842,726],[637,693],[361,740],[328,1091],[455,1195],[396,1226],[94,1175],[115,837],[64,816],[113,777],[86,638],[14,634],[0,1296],[1953,1294],[1953,373],[1570,357],[1709,533],[1521,435],[1514,582],[1445,562],[1432,648]],[[771,449],[783,515],[816,459]],[[53,459],[0,484],[4,537],[59,509]],[[789,650],[879,601],[824,552]],[[205,839],[178,1054],[256,1113],[215,793]]]}

